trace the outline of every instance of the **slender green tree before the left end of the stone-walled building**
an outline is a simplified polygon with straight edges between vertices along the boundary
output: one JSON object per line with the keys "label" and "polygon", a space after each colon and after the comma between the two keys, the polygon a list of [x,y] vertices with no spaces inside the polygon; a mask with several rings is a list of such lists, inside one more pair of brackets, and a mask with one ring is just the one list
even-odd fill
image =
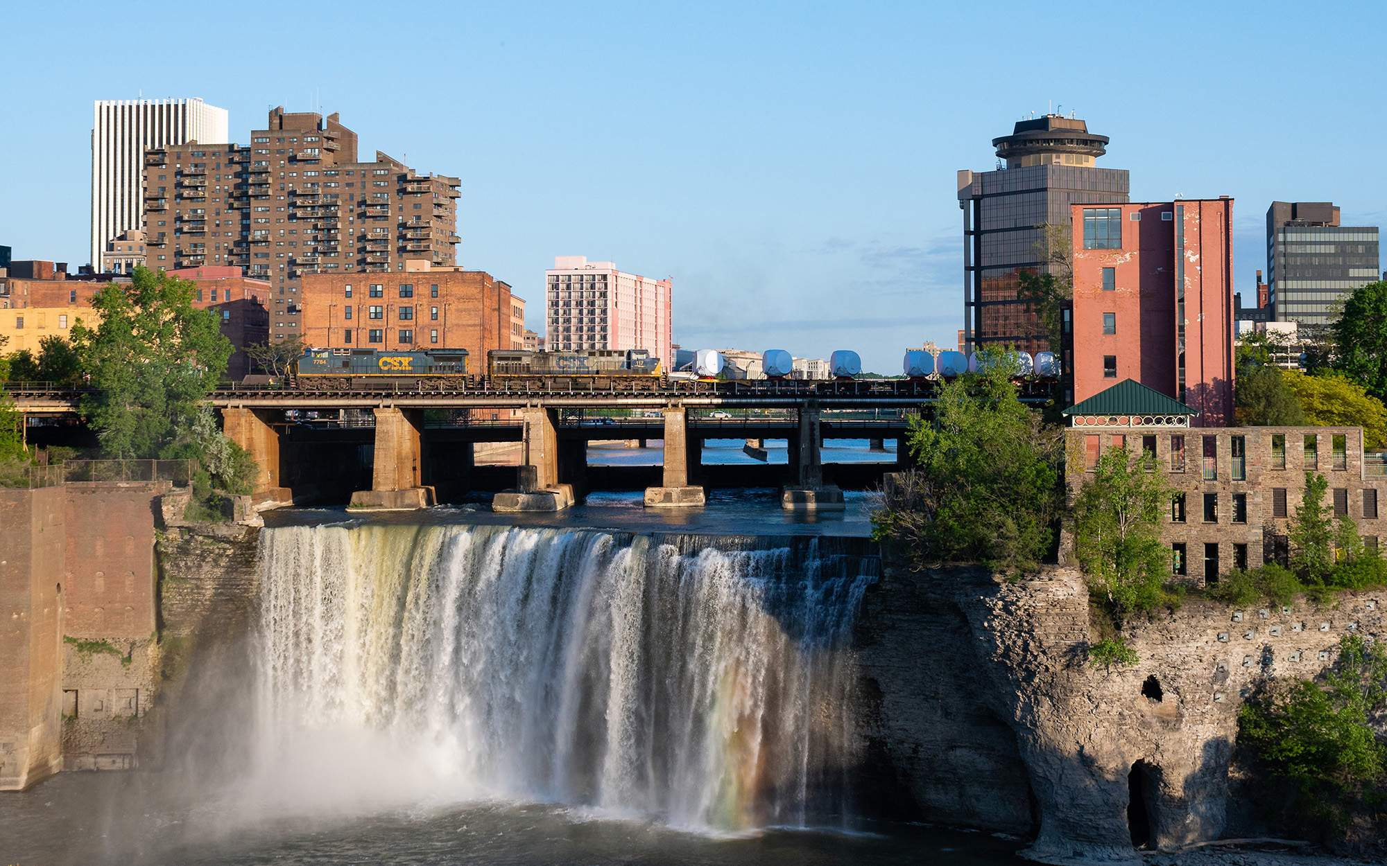
{"label": "slender green tree before the left end of the stone-walled building", "polygon": [[1147,468],[1153,457],[1108,449],[1074,499],[1075,556],[1096,600],[1118,619],[1166,600],[1171,550],[1161,543],[1161,520],[1173,491]]}

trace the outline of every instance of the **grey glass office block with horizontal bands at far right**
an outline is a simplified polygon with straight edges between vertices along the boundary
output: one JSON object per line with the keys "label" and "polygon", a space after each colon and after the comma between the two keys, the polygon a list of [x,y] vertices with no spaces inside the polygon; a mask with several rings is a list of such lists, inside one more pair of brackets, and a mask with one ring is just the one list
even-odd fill
{"label": "grey glass office block with horizontal bands at far right", "polygon": [[1340,226],[1329,201],[1266,209],[1266,283],[1276,321],[1329,324],[1336,305],[1377,280],[1377,226]]}

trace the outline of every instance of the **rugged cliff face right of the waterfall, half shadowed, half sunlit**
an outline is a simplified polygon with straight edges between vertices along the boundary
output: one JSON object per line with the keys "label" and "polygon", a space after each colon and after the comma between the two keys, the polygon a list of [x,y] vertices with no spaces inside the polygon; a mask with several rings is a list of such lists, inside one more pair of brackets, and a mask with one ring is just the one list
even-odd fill
{"label": "rugged cliff face right of the waterfall, half shadowed, half sunlit", "polygon": [[1229,830],[1243,697],[1311,678],[1348,633],[1381,639],[1387,592],[1290,608],[1193,601],[1133,625],[1140,662],[1093,668],[1087,590],[1050,567],[886,568],[859,626],[872,752],[927,820],[1033,834],[1047,862],[1139,862]]}

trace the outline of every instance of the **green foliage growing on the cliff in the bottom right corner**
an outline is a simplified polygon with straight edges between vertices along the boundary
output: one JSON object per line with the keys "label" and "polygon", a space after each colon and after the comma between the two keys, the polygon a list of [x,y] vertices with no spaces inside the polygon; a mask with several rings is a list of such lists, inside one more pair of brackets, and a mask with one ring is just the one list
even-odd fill
{"label": "green foliage growing on the cliff in the bottom right corner", "polygon": [[1370,722],[1384,709],[1387,651],[1350,635],[1323,683],[1298,680],[1243,704],[1237,743],[1297,787],[1291,818],[1343,830],[1350,811],[1377,812],[1387,797],[1387,744]]}

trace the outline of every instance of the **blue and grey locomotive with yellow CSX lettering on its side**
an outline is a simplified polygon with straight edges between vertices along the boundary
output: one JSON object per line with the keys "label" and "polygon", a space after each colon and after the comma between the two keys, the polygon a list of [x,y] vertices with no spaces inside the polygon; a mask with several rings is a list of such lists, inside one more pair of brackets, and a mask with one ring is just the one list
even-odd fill
{"label": "blue and grey locomotive with yellow CSX lettering on its side", "polygon": [[298,359],[298,388],[336,391],[406,385],[409,388],[465,387],[466,349],[308,349]]}

